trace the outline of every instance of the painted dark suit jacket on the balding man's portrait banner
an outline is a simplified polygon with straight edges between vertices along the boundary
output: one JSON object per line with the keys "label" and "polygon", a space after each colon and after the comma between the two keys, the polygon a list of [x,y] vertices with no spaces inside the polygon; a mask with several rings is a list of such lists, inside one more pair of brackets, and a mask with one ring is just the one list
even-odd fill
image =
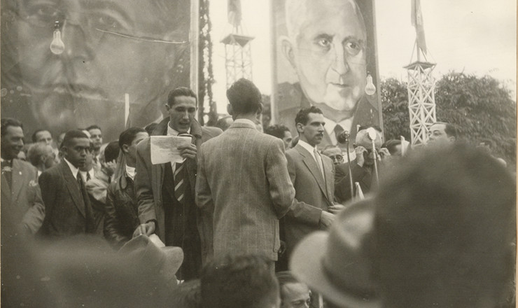
{"label": "painted dark suit jacket on the balding man's portrait banner", "polygon": [[[279,119],[278,123],[282,125],[286,125],[290,129],[291,134],[293,136],[297,136],[297,129],[295,127],[295,116],[297,116],[297,112],[300,109],[307,108],[311,106],[311,103],[304,96],[304,92],[302,92],[302,88],[300,87],[300,83],[281,83],[279,85],[279,90],[277,91],[277,97],[279,102],[277,102],[277,110],[279,110]],[[379,124],[379,114],[376,108],[370,104],[367,98],[364,96],[360,99],[356,106],[356,111],[354,112],[353,123],[351,125],[351,144],[353,144],[353,140],[356,138],[356,126],[357,125],[369,125],[369,124]],[[332,144],[331,139],[327,132],[324,132],[324,139],[321,144],[318,145],[318,148],[323,149],[325,146]],[[340,146],[342,147],[342,146]]]}

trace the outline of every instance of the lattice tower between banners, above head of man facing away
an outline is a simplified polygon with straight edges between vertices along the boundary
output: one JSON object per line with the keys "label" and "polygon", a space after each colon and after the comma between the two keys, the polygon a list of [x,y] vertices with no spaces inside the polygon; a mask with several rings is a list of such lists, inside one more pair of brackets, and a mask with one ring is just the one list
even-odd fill
{"label": "lattice tower between banners, above head of man facing away", "polygon": [[227,88],[239,78],[252,80],[252,40],[253,36],[242,34],[229,34],[221,40],[225,44]]}

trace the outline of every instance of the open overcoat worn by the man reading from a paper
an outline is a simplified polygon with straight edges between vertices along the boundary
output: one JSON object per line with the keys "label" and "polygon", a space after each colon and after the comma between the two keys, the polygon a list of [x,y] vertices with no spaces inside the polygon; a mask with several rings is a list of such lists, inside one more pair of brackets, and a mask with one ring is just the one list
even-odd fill
{"label": "open overcoat worn by the man reading from a paper", "polygon": [[[169,118],[165,118],[160,122],[153,133],[153,136],[164,136],[167,134],[167,124]],[[197,121],[193,121],[190,127],[190,134],[193,143],[198,151],[200,146],[207,140],[221,134],[221,130],[217,127],[202,127]],[[140,223],[148,221],[156,221],[157,229],[155,233],[165,242],[165,214],[162,206],[162,183],[164,181],[164,168],[167,164],[153,165],[151,164],[151,138],[144,139],[137,146],[137,175],[135,176],[135,193],[137,194],[137,204],[139,207]],[[200,155],[200,153],[198,153]],[[192,200],[195,200],[195,185],[197,160],[187,159],[184,162],[188,174],[188,184],[193,194]],[[195,204],[192,204],[195,207]],[[202,260],[207,258],[211,248],[207,246],[207,239],[212,238],[211,219],[198,213],[197,227],[200,232],[202,241]]]}

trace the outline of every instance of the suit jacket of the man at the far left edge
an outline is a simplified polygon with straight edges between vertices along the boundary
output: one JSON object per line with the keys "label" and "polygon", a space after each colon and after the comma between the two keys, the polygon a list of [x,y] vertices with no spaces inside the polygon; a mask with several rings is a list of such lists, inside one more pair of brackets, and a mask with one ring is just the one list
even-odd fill
{"label": "suit jacket of the man at the far left edge", "polygon": [[11,185],[6,176],[1,176],[1,214],[2,221],[10,219],[11,225],[22,225],[31,233],[41,227],[45,207],[38,186],[38,170],[22,160],[14,159]]}

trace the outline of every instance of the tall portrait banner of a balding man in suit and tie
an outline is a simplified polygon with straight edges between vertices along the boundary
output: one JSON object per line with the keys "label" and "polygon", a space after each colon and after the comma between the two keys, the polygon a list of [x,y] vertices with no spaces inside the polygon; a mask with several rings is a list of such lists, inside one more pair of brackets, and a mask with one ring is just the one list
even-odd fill
{"label": "tall portrait banner of a balding man in suit and tie", "polygon": [[274,123],[296,136],[297,112],[318,107],[321,147],[344,130],[352,145],[359,125],[382,125],[379,91],[365,91],[379,89],[374,0],[272,0],[272,21]]}

